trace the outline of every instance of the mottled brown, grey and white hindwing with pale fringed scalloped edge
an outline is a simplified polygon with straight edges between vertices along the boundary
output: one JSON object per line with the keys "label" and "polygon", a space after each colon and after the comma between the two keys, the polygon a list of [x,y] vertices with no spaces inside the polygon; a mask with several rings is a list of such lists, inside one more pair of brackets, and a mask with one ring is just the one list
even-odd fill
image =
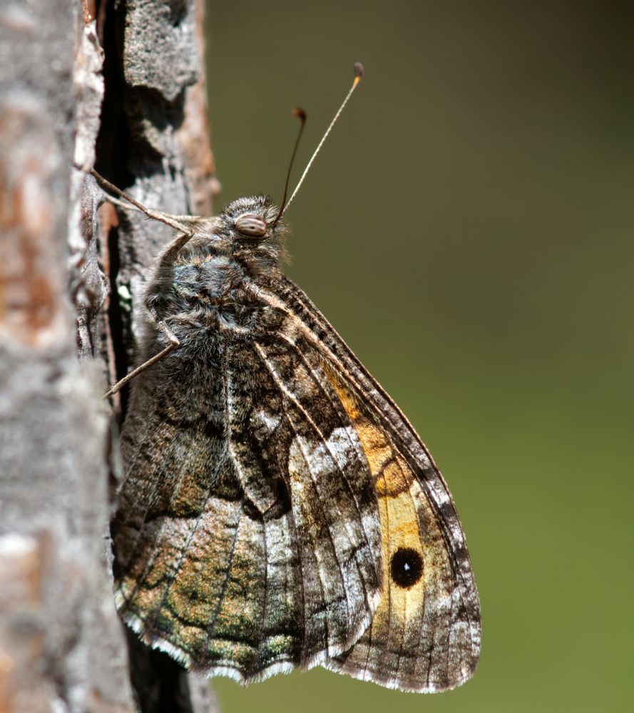
{"label": "mottled brown, grey and white hindwing with pale fringed scalloped edge", "polygon": [[277,338],[216,356],[205,378],[182,357],[138,377],[113,521],[116,599],[150,645],[249,682],[324,662],[367,629],[379,511],[323,371]]}

